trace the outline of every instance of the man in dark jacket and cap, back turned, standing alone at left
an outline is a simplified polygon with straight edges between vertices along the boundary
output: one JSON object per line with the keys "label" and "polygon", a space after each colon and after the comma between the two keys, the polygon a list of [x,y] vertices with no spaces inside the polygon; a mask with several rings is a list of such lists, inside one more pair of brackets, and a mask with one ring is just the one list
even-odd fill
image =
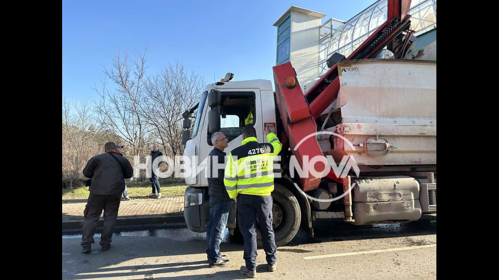
{"label": "man in dark jacket and cap, back turned, standing alone at left", "polygon": [[125,178],[131,178],[133,175],[130,162],[116,152],[115,143],[107,142],[105,151],[90,159],[83,169],[83,175],[91,179],[80,243],[83,246],[83,253],[92,251],[95,228],[102,210],[104,210],[104,228],[99,244],[102,251],[109,250],[118,218],[121,194],[125,190]]}

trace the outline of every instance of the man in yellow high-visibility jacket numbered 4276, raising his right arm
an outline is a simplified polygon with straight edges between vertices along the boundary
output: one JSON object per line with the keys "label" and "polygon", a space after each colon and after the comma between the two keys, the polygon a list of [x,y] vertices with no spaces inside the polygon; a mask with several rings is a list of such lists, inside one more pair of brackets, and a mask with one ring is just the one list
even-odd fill
{"label": "man in yellow high-visibility jacket numbered 4276, raising his right arm", "polygon": [[229,153],[224,184],[230,198],[237,203],[237,220],[244,236],[244,260],[241,273],[250,277],[256,274],[257,236],[256,219],[262,234],[263,250],[268,270],[276,269],[274,230],[272,228],[272,196],[274,190],[273,158],[281,151],[282,144],[265,128],[268,143],[258,143],[256,130],[245,126],[242,146]]}

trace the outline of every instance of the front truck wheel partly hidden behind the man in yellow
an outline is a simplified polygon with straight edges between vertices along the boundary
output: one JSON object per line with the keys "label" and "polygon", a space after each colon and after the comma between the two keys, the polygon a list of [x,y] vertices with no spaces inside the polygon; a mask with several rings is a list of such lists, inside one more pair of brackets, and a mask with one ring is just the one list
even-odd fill
{"label": "front truck wheel partly hidden behind the man in yellow", "polygon": [[[278,183],[274,183],[272,200],[272,227],[275,234],[275,245],[284,246],[293,239],[300,228],[300,205],[293,193]],[[262,236],[260,230],[257,229],[257,245],[261,247],[262,244]]]}

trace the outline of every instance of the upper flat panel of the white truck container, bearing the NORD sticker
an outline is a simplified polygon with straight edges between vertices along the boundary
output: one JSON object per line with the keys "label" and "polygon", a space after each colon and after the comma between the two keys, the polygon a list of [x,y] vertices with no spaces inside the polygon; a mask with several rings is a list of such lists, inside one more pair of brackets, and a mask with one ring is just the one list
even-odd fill
{"label": "upper flat panel of the white truck container, bearing the NORD sticker", "polygon": [[342,61],[338,70],[340,99],[345,103],[341,107],[343,122],[359,122],[359,118],[370,123],[377,119],[397,123],[436,121],[435,61]]}

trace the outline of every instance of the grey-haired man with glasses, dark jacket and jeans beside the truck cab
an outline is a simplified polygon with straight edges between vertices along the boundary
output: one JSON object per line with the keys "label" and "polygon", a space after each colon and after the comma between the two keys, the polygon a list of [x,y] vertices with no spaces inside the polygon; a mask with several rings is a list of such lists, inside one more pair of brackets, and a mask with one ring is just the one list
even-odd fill
{"label": "grey-haired man with glasses, dark jacket and jeans beside the truck cab", "polygon": [[[221,132],[211,135],[213,150],[209,157],[211,176],[208,177],[208,195],[210,196],[210,220],[206,229],[206,243],[210,266],[221,266],[229,263],[225,255],[220,255],[220,243],[224,237],[224,230],[229,218],[231,198],[224,185],[225,155],[224,149],[229,146],[229,139]],[[221,167],[216,169],[214,166]]]}

